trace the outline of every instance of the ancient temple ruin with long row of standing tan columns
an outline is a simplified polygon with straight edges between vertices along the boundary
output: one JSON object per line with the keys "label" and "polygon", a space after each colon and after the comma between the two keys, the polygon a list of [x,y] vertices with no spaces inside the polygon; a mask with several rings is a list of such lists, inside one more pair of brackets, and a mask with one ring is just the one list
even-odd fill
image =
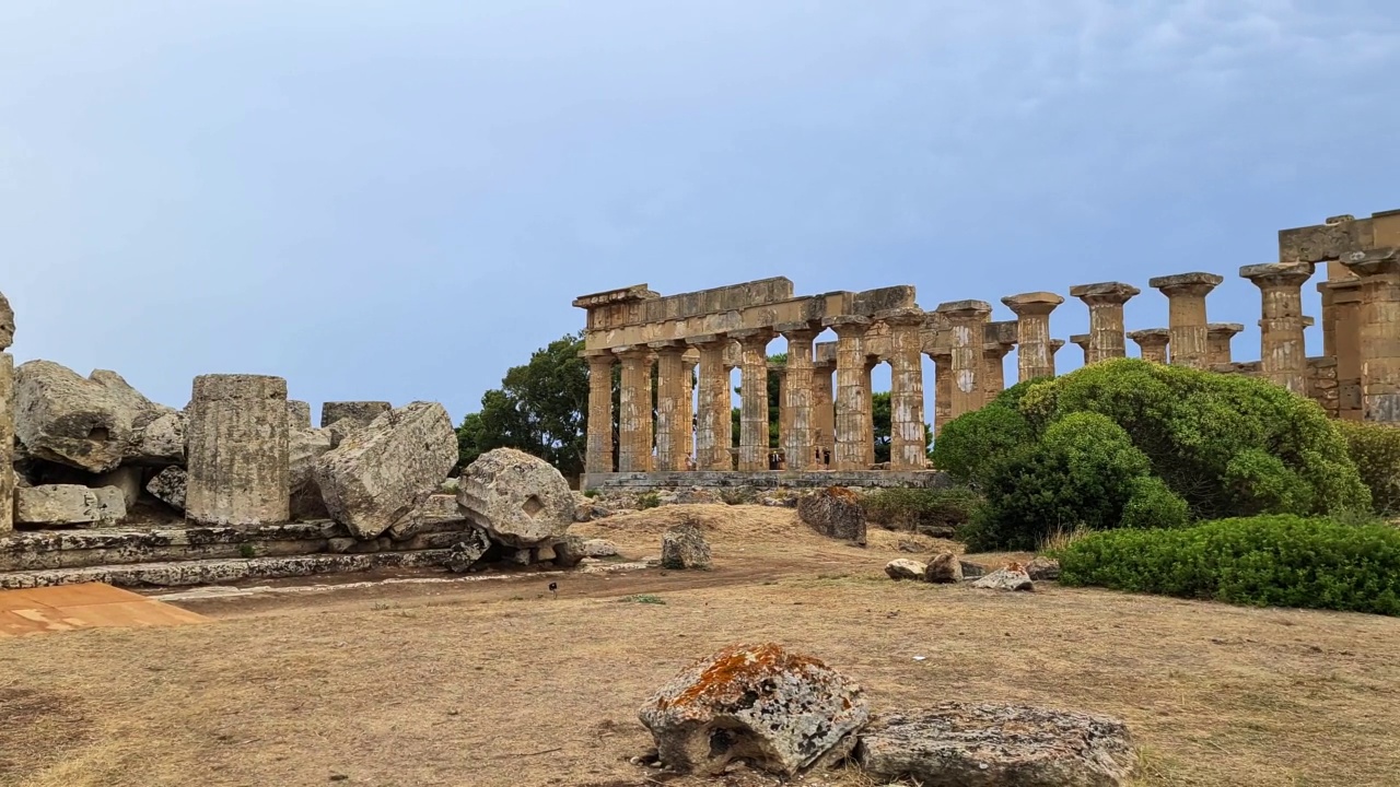
{"label": "ancient temple ruin with long row of standing tan columns", "polygon": [[[1302,288],[1320,263],[1323,354],[1308,357],[1303,330],[1313,319],[1302,314]],[[1072,286],[1068,295],[1084,301],[1089,323],[1068,340],[1086,364],[1126,357],[1131,339],[1142,358],[1263,377],[1313,398],[1333,417],[1400,422],[1400,210],[1282,230],[1278,260],[1246,265],[1239,276],[1261,297],[1257,361],[1233,358],[1231,343],[1243,325],[1207,316],[1207,295],[1224,281],[1215,273],[1151,279],[1148,287],[1168,298],[1169,323],[1131,332],[1126,305],[1141,288],[1121,281]],[[785,471],[794,483],[802,473],[869,473],[872,483],[876,473],[899,473],[900,483],[918,483],[928,471],[923,356],[934,363],[937,434],[1005,388],[1002,358],[1012,349],[1018,379],[1056,374],[1064,342],[1053,337],[1050,318],[1064,300],[1057,293],[1008,295],[1001,302],[1015,319],[993,321],[986,301],[925,311],[910,286],[797,295],[781,277],[679,295],[637,284],[578,297],[591,379],[584,485],[727,483],[704,473],[770,471]],[[816,342],[827,329],[834,342]],[[770,451],[767,358],[780,336],[787,342],[787,363],[773,370],[780,450]],[[871,370],[882,363],[890,365],[892,445],[889,462],[876,466]]]}

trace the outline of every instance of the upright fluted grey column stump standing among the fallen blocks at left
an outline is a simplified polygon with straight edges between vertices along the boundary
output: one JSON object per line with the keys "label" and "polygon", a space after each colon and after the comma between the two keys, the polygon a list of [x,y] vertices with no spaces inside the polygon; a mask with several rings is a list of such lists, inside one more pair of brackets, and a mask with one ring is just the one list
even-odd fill
{"label": "upright fluted grey column stump standing among the fallen blocks at left", "polygon": [[186,520],[246,527],[290,518],[286,379],[258,374],[196,377],[185,440]]}

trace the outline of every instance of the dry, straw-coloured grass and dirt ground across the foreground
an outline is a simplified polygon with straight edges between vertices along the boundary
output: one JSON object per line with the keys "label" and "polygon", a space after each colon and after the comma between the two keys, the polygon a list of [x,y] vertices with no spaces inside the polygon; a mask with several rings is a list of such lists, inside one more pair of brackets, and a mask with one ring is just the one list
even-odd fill
{"label": "dry, straw-coloured grass and dirt ground across the foreground", "polygon": [[[683,515],[715,570],[566,574],[557,599],[524,574],[200,601],[183,605],[217,623],[8,640],[0,784],[766,784],[627,762],[650,745],[636,714],[655,688],[759,640],[853,675],[876,711],[958,699],[1120,716],[1141,786],[1400,784],[1397,619],[893,583],[881,567],[907,555],[899,542],[930,539],[872,532],[857,549],[790,510],[665,507],[577,531],[641,557]],[[664,604],[623,601],[643,594]]]}

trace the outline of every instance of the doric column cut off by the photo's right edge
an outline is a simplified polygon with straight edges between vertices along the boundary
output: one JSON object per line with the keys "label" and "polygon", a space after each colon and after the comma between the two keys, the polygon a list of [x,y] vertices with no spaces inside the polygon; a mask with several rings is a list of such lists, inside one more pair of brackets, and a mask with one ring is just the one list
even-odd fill
{"label": "doric column cut off by the photo's right edge", "polygon": [[1361,277],[1361,399],[1368,422],[1400,422],[1400,248],[1341,260]]}

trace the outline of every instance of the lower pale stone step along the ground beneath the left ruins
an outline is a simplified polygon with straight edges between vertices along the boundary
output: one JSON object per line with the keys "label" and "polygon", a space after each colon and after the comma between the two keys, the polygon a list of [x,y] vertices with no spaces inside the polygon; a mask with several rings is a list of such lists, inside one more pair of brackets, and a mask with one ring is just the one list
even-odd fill
{"label": "lower pale stone step along the ground beneath the left ruins", "polygon": [[125,566],[84,566],[0,573],[0,590],[42,588],[77,583],[116,587],[211,585],[238,580],[277,580],[340,574],[371,569],[431,569],[447,564],[449,549],[377,552],[368,555],[295,555],[241,560],[175,560]]}

